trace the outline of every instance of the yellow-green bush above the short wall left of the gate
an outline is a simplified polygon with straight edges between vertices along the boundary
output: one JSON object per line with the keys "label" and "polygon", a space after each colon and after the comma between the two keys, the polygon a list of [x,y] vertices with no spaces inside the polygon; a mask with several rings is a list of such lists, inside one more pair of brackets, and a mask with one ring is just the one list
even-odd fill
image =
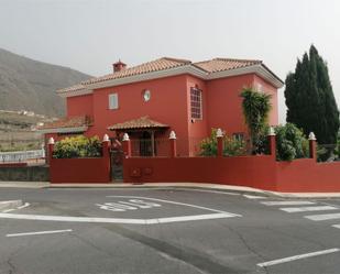
{"label": "yellow-green bush above the short wall left of the gate", "polygon": [[84,135],[65,138],[56,142],[53,151],[55,158],[100,157],[101,142],[98,136]]}

